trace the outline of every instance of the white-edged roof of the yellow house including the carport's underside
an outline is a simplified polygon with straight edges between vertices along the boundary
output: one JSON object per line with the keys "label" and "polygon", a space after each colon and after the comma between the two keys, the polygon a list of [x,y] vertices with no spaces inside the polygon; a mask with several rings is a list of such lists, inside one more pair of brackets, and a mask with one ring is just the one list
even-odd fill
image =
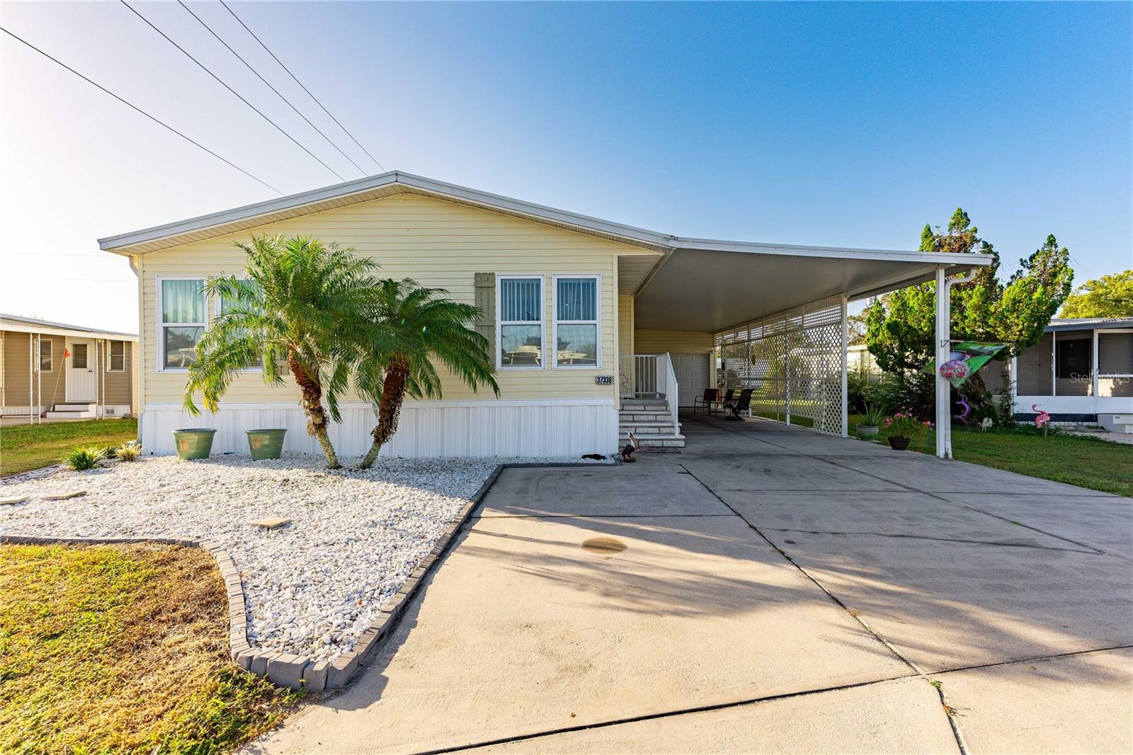
{"label": "white-edged roof of the yellow house including the carport's underside", "polygon": [[114,254],[150,254],[402,193],[467,204],[656,253],[654,262],[641,264],[640,256],[633,260],[634,252],[628,249],[630,256],[623,256],[619,265],[619,292],[638,296],[634,316],[639,328],[715,331],[829,296],[861,298],[930,280],[938,265],[962,272],[991,264],[991,256],[983,254],[673,236],[397,170],[101,238],[99,246]]}

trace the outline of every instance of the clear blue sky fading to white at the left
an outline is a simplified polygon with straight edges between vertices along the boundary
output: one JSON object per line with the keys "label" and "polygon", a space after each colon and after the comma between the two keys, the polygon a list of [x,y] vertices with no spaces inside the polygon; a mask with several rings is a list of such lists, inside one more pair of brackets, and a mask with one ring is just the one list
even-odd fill
{"label": "clear blue sky fading to white at the left", "polygon": [[[190,7],[367,168],[215,2]],[[347,178],[176,3],[137,8]],[[1130,3],[232,3],[387,169],[655,230],[1133,266]],[[338,181],[117,2],[2,25],[286,193]],[[95,238],[272,194],[8,39],[0,309],[134,329]],[[111,292],[110,296],[107,292]]]}

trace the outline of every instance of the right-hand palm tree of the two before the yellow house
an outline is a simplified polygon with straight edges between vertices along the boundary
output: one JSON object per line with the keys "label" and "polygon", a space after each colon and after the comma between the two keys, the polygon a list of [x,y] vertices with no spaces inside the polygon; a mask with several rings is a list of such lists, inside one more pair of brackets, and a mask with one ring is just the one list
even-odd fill
{"label": "right-hand palm tree of the two before the yellow house", "polygon": [[471,304],[445,298],[441,288],[425,288],[409,280],[382,280],[366,314],[368,338],[358,358],[358,392],[377,404],[374,442],[359,465],[374,464],[398,430],[401,405],[412,398],[441,398],[437,359],[474,391],[491,385],[500,396],[488,341],[468,324],[482,316]]}

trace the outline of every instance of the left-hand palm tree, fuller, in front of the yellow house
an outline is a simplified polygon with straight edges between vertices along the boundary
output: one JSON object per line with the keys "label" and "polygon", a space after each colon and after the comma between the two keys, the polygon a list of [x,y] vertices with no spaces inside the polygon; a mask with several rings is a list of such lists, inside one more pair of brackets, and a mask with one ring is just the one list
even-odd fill
{"label": "left-hand palm tree, fuller, in front of the yellow house", "polygon": [[[241,370],[263,367],[264,382],[283,383],[283,368],[299,385],[299,406],[310,433],[338,469],[338,456],[327,433],[327,412],[339,422],[338,396],[350,375],[350,343],[361,338],[361,316],[373,299],[378,266],[352,248],[324,245],[318,239],[254,236],[237,243],[247,255],[241,275],[210,278],[206,295],[224,302],[224,312],[197,343],[189,367],[184,406],[199,414],[193,393],[201,391],[210,412]],[[376,334],[367,331],[367,337]]]}

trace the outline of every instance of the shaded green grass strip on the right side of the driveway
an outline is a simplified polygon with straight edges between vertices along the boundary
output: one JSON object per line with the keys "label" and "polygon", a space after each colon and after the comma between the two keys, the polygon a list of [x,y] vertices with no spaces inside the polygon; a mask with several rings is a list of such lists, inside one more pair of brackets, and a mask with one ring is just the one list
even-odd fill
{"label": "shaded green grass strip on the right side of the driveway", "polygon": [[[850,415],[851,432],[861,415]],[[885,440],[885,432],[879,435]],[[936,435],[909,450],[936,453]],[[1133,446],[1070,433],[1043,436],[1019,430],[952,429],[952,452],[961,461],[1133,498]]]}

